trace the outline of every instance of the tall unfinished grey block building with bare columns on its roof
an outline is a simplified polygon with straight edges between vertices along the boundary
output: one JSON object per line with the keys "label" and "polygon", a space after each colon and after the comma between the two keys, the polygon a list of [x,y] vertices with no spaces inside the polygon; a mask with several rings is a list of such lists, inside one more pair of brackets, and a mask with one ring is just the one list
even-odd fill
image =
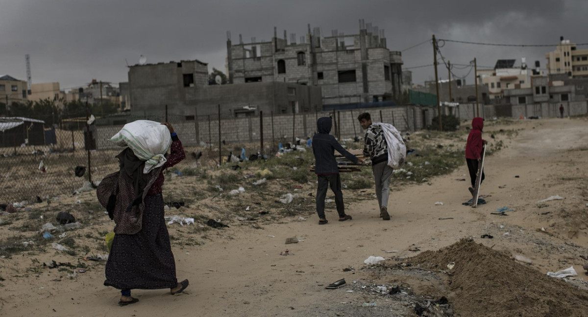
{"label": "tall unfinished grey block building with bare columns on its roof", "polygon": [[[393,101],[402,94],[402,55],[387,49],[383,30],[359,21],[359,34],[310,30],[296,41],[284,31],[272,41],[233,44],[228,33],[230,83],[289,82],[319,86],[324,109]],[[354,105],[355,104],[355,105]],[[372,105],[373,106],[373,105]]]}

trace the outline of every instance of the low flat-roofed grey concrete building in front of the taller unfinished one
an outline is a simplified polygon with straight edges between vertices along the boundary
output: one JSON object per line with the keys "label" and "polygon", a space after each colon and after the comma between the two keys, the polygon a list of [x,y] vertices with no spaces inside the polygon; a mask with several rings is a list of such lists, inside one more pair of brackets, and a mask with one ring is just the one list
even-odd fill
{"label": "low flat-roofed grey concrete building in front of the taller unfinished one", "polygon": [[[260,82],[209,85],[208,65],[199,60],[129,66],[129,82],[121,83],[125,103],[137,116],[165,113],[193,120],[198,116],[253,117],[320,110],[320,88],[296,83]],[[177,120],[177,119],[176,119]]]}

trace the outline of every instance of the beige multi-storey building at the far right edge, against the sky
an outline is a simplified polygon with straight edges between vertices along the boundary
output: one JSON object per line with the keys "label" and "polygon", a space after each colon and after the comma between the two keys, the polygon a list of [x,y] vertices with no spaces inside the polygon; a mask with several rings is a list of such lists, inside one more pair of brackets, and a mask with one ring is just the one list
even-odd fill
{"label": "beige multi-storey building at the far right edge, against the sky", "polygon": [[553,52],[545,54],[549,74],[571,73],[572,77],[588,77],[588,49],[577,49],[576,43],[560,38]]}

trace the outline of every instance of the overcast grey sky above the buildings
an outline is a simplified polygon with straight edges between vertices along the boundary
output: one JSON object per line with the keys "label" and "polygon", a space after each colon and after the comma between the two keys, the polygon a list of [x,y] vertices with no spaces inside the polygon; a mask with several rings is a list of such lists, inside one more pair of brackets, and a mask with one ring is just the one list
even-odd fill
{"label": "overcast grey sky above the buildings", "polygon": [[[304,35],[307,24],[345,34],[358,33],[358,20],[385,29],[390,50],[440,39],[489,43],[551,44],[564,36],[588,42],[586,0],[0,0],[0,75],[26,80],[25,54],[31,55],[33,83],[78,87],[92,79],[127,80],[129,65],[145,55],[148,63],[199,59],[225,70],[226,31],[270,40],[273,26]],[[289,38],[289,36],[288,36]],[[588,46],[583,46],[588,48]],[[496,59],[526,57],[528,65],[553,48],[504,48],[445,43],[443,56],[479,66]],[[432,64],[432,46],[403,52],[406,68]],[[462,66],[459,66],[462,67]],[[469,69],[454,69],[466,75]],[[447,69],[439,69],[447,78]],[[432,79],[433,68],[413,69],[413,82]],[[468,82],[472,82],[470,75]]]}

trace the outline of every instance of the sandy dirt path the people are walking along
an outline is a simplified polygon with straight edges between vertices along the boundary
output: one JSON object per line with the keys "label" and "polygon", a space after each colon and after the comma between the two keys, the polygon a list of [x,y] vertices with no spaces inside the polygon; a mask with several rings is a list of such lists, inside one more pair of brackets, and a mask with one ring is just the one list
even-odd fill
{"label": "sandy dirt path the people are walking along", "polygon": [[[586,202],[577,183],[586,181],[587,152],[568,150],[588,144],[588,124],[550,119],[528,120],[513,127],[524,130],[506,149],[487,158],[481,194],[490,197],[479,208],[462,205],[470,198],[467,181],[457,180],[467,178],[464,165],[452,174],[434,178],[430,186],[393,192],[392,221],[380,220],[374,199],[350,205],[352,221],[336,221],[331,208],[328,225],[317,225],[313,215],[307,221],[293,219],[260,230],[232,227],[225,230],[232,239],[174,248],[178,278],[191,281],[186,294],[133,291],[141,302],[119,308],[119,293],[102,286],[103,271],[94,270],[78,276],[75,282],[44,285],[46,279],[39,278],[24,285],[4,281],[0,290],[2,316],[335,316],[335,309],[330,309],[340,302],[357,301],[359,304],[353,305],[358,306],[363,299],[342,289],[325,290],[319,284],[340,278],[348,282],[370,279],[365,271],[342,272],[343,268],[360,268],[369,255],[407,257],[418,253],[409,248],[436,250],[464,237],[513,255],[523,254],[543,273],[570,265],[580,273],[583,262],[578,255],[588,255],[586,227],[579,225],[573,231],[558,213],[577,208],[585,214]],[[490,133],[485,131],[485,139],[491,140]],[[537,208],[536,201],[551,195],[566,200]],[[436,201],[443,205],[435,205]],[[515,211],[506,217],[490,215],[499,207]],[[547,211],[549,214],[542,215]],[[542,227],[553,236],[536,231]],[[485,233],[495,238],[480,239]],[[286,238],[293,236],[304,240],[285,245]],[[293,255],[281,256],[280,251],[286,248]],[[398,252],[385,252],[393,250]],[[582,275],[578,278],[586,279]]]}

